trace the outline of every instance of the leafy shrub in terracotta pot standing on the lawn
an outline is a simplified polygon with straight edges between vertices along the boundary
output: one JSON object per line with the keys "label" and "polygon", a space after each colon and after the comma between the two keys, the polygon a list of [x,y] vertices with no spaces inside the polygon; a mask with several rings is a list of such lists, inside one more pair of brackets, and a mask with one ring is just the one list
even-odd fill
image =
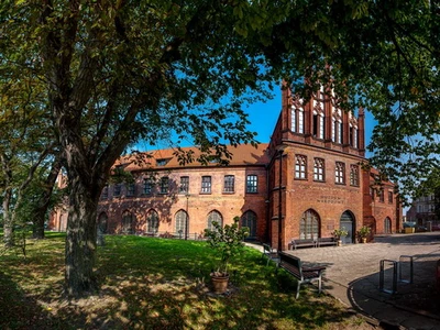
{"label": "leafy shrub in terracotta pot standing on the lawn", "polygon": [[232,224],[226,224],[224,227],[212,221],[215,229],[205,230],[207,242],[216,251],[218,257],[218,264],[210,274],[216,294],[223,294],[227,290],[230,260],[240,253],[244,246],[243,240],[249,235],[249,229],[246,227],[239,228],[239,221],[240,218],[235,217]]}

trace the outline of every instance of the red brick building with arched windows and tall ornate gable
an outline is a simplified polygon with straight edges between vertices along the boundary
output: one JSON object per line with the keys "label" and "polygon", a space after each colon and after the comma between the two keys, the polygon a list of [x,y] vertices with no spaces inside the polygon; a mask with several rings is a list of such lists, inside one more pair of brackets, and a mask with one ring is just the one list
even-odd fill
{"label": "red brick building with arched windows and tall ornate gable", "polygon": [[[133,182],[103,189],[98,223],[108,233],[197,239],[212,221],[231,223],[238,216],[251,239],[277,246],[280,233],[283,249],[290,239],[331,237],[342,227],[346,243],[364,224],[374,233],[400,230],[394,185],[375,187],[377,173],[361,165],[362,109],[358,117],[344,112],[322,91],[301,103],[286,89],[270,143],[230,152],[229,166],[182,166],[172,150],[151,152],[142,165],[122,158],[117,167]],[[52,228],[65,228],[63,217],[55,215]]]}

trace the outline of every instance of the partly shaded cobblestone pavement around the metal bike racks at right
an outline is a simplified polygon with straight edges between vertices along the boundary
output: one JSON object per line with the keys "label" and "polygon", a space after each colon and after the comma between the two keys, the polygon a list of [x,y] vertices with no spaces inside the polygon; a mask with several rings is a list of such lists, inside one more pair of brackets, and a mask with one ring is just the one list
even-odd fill
{"label": "partly shaded cobblestone pavement around the metal bike racks at right", "polygon": [[[440,294],[437,262],[440,232],[376,237],[374,243],[289,251],[306,265],[324,265],[323,288],[348,306],[389,329],[439,329]],[[403,256],[400,258],[400,256]],[[402,261],[402,277],[410,279],[409,256],[414,262],[413,283],[397,280],[397,292],[380,290],[380,265],[384,262],[384,288],[393,289],[393,261]],[[394,328],[393,328],[394,327]]]}

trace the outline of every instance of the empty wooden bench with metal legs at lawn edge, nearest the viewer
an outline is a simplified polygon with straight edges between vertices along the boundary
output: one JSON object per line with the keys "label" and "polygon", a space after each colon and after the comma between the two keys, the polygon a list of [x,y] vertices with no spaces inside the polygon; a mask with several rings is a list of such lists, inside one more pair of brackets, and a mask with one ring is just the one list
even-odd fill
{"label": "empty wooden bench with metal legs at lawn edge, nearest the viewer", "polygon": [[299,257],[283,252],[279,253],[278,267],[285,270],[297,279],[298,285],[296,289],[296,299],[299,297],[299,289],[302,283],[318,282],[318,293],[321,293],[322,273],[326,267],[302,267],[302,263]]}

